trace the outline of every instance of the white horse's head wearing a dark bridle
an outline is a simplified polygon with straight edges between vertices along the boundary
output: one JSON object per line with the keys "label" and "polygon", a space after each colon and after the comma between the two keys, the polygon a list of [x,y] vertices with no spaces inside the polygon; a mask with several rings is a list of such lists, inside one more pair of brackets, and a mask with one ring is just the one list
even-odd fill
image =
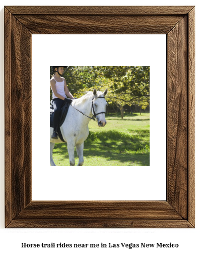
{"label": "white horse's head wearing a dark bridle", "polygon": [[92,114],[97,118],[98,126],[102,127],[106,125],[105,113],[107,102],[105,100],[105,95],[108,89],[106,89],[102,94],[98,94],[96,89],[93,91],[93,104],[92,104]]}

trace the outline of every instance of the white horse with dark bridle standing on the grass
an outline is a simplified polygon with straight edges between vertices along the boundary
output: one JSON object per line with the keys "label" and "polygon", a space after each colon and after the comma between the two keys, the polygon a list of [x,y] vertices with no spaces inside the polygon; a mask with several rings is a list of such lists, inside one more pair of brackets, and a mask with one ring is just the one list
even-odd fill
{"label": "white horse with dark bridle standing on the grass", "polygon": [[[105,95],[107,94],[107,91],[108,90],[106,89],[102,93],[101,91],[96,91],[96,89],[94,89],[93,92],[88,92],[81,98],[74,99],[71,104],[74,108],[72,106],[69,108],[68,115],[66,115],[60,130],[63,139],[68,145],[71,166],[75,166],[75,146],[79,157],[79,164],[77,166],[82,166],[84,163],[83,148],[84,141],[89,135],[88,124],[91,120],[90,118],[92,118],[92,116],[96,117],[99,127],[106,125],[105,112],[107,102],[105,100]],[[53,161],[53,148],[55,143],[63,142],[59,138],[57,140],[51,139],[52,133],[53,128],[50,127],[50,165],[56,166]]]}

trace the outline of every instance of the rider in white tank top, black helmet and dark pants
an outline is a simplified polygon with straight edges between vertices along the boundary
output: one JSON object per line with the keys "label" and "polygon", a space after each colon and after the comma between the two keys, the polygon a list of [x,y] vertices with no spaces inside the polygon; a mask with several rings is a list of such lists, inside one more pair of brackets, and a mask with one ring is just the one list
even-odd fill
{"label": "rider in white tank top, black helmet and dark pants", "polygon": [[[59,123],[59,112],[63,105],[63,103],[72,103],[72,99],[74,99],[72,93],[69,91],[68,86],[66,85],[66,80],[61,75],[64,72],[64,69],[68,68],[67,66],[55,67],[52,66],[52,71],[54,75],[50,80],[51,89],[53,92],[53,108],[54,108],[54,116],[53,116],[53,133],[51,135],[52,139],[58,139],[58,123]],[[68,96],[69,98],[66,98]]]}

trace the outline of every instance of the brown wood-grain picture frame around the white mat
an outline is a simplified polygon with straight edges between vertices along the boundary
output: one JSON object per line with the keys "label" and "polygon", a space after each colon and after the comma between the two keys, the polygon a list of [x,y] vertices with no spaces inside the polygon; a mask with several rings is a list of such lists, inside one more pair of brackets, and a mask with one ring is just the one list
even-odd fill
{"label": "brown wood-grain picture frame around the white mat", "polygon": [[[32,34],[167,35],[166,201],[31,200]],[[6,227],[193,228],[194,7],[5,7],[5,156]]]}

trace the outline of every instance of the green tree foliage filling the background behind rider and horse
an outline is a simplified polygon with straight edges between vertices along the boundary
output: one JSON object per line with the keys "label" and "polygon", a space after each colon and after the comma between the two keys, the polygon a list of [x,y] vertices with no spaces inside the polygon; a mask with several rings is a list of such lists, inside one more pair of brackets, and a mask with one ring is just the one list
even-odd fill
{"label": "green tree foliage filling the background behind rider and horse", "polygon": [[121,111],[124,105],[138,105],[143,109],[149,106],[149,66],[71,66],[63,76],[75,97],[94,88],[101,91],[108,88],[108,103]]}

